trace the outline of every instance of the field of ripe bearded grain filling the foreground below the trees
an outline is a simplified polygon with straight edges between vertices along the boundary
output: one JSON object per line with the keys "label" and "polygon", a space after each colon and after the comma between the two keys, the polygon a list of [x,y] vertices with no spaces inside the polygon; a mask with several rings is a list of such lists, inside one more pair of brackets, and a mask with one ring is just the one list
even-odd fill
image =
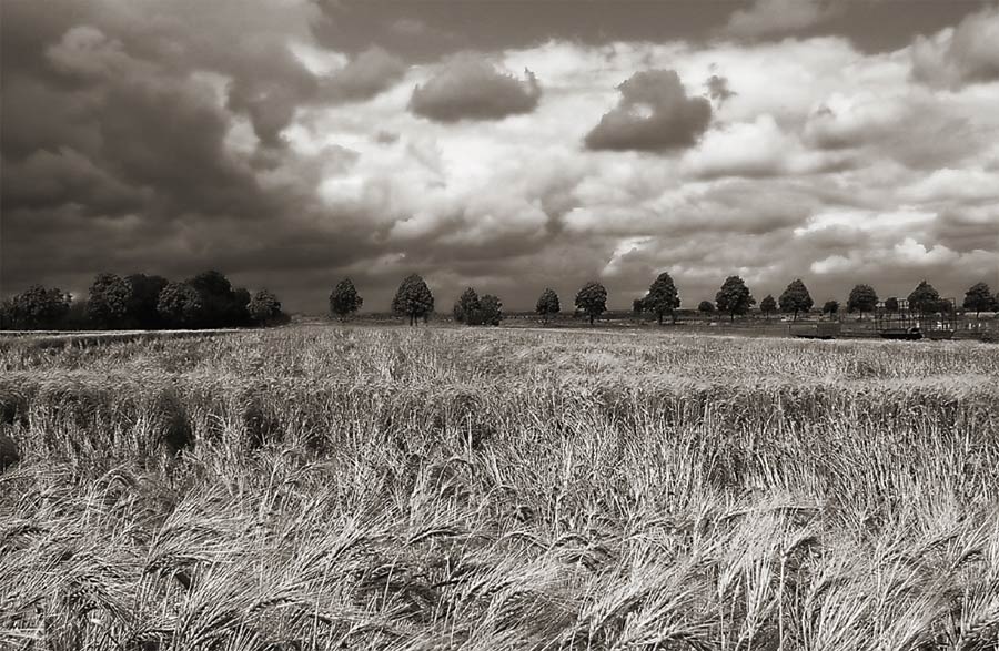
{"label": "field of ripe bearded grain filling the foreground below the trees", "polygon": [[0,349],[0,649],[995,649],[999,348]]}

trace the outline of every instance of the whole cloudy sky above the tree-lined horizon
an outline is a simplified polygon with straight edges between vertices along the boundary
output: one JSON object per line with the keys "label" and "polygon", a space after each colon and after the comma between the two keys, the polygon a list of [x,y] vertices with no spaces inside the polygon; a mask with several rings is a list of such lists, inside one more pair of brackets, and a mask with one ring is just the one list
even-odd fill
{"label": "whole cloudy sky above the tree-lined horizon", "polygon": [[999,3],[3,0],[0,294],[999,289]]}

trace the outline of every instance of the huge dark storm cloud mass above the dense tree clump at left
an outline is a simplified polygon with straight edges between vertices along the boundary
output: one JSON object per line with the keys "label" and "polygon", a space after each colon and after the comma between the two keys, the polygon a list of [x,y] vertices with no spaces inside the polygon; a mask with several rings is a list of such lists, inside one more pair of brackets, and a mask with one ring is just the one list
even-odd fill
{"label": "huge dark storm cloud mass above the dense tree clump at left", "polygon": [[[331,214],[315,196],[356,154],[281,149],[296,108],[317,101],[319,80],[286,48],[306,22],[225,1],[2,10],[2,294],[83,291],[100,269],[272,269],[287,287],[301,269],[375,253],[367,215]],[[377,92],[371,78],[394,65],[354,58],[333,78],[337,95]],[[234,114],[263,148],[232,149]]]}

